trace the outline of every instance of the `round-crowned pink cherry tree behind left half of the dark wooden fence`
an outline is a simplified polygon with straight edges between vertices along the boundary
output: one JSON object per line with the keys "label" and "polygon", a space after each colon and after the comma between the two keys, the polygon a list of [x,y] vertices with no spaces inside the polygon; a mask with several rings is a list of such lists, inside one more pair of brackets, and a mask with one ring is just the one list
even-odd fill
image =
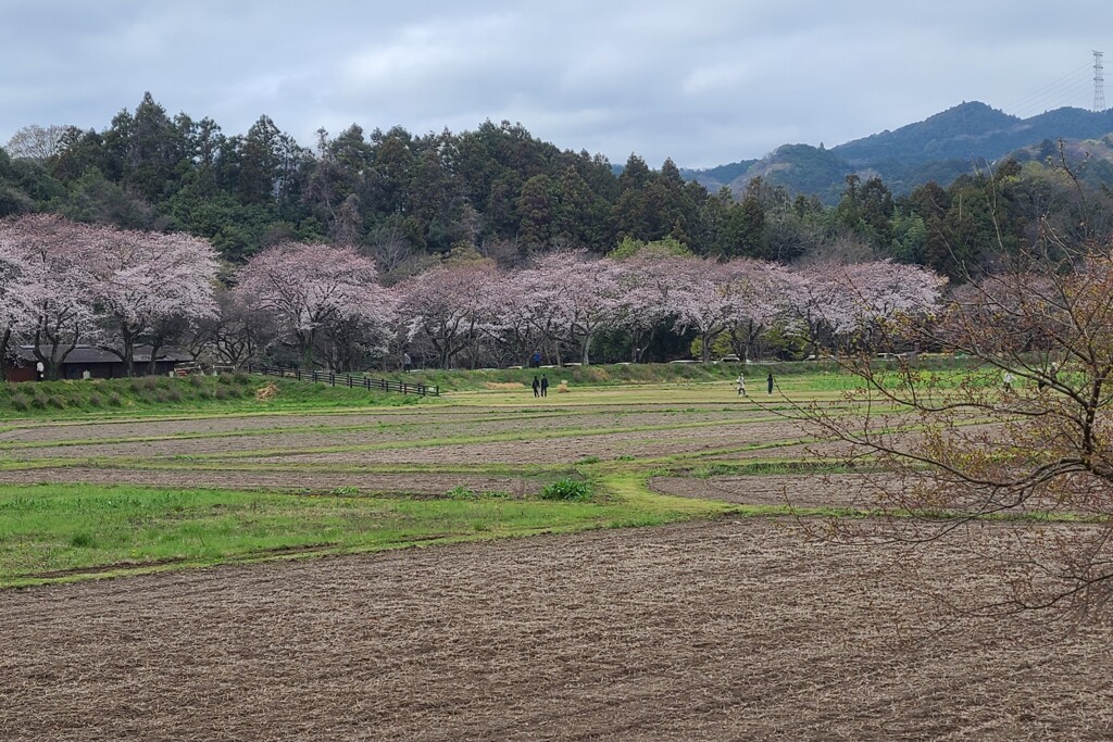
{"label": "round-crowned pink cherry tree behind left half of the dark wooden fence", "polygon": [[378,285],[374,263],[352,247],[282,243],[252,258],[236,278],[237,293],[273,314],[306,368],[318,340],[339,325],[386,327],[393,319],[394,301]]}

